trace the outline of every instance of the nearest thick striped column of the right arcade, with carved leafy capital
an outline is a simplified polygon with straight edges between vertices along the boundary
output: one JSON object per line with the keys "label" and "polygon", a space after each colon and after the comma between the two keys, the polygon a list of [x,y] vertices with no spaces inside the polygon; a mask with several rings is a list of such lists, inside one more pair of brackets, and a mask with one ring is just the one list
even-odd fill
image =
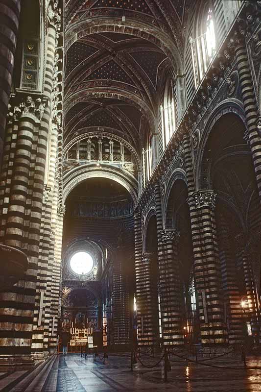
{"label": "nearest thick striped column of the right arcade, with carved leafy capital", "polygon": [[224,324],[224,307],[221,300],[220,262],[217,253],[216,224],[213,191],[194,193],[201,229],[202,264],[195,266],[195,285],[199,296],[200,333],[202,344],[227,343]]}

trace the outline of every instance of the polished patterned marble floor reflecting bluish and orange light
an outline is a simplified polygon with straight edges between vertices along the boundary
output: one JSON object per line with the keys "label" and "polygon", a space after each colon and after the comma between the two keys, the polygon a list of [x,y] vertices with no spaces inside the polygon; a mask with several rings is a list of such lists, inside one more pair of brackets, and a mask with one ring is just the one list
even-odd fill
{"label": "polished patterned marble floor reflecting bluish and orange light", "polygon": [[[153,366],[159,357],[142,357],[145,366]],[[174,360],[171,357],[171,360]],[[54,356],[35,372],[0,375],[4,392],[260,392],[261,357],[248,357],[244,369],[240,358],[203,361],[204,364],[171,362],[168,382],[164,382],[163,362],[153,368],[140,363],[130,371],[129,354],[110,354],[105,365],[93,355]],[[208,366],[212,365],[212,366]],[[16,374],[20,373],[20,374]],[[16,380],[18,380],[16,382]]]}

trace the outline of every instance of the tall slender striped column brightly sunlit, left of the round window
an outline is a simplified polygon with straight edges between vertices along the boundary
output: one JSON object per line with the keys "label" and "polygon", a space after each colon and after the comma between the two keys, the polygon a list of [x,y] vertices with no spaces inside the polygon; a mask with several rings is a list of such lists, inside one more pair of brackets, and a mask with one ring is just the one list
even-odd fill
{"label": "tall slender striped column brightly sunlit, left of the round window", "polygon": [[[52,7],[50,1],[49,7]],[[49,10],[49,9],[48,9]],[[55,48],[57,42],[57,29],[59,28],[59,13],[57,8],[47,12],[47,53],[46,67],[44,77],[44,92],[48,104],[43,114],[43,120],[39,132],[39,167],[41,172],[42,192],[44,192],[44,183],[49,190],[49,197],[44,206],[44,215],[41,222],[41,248],[39,252],[39,269],[37,275],[37,290],[35,298],[35,317],[33,326],[33,343],[32,352],[36,357],[45,356],[49,350],[49,339],[54,345],[55,338],[51,337],[53,331],[53,312],[51,311],[52,297],[52,274],[54,266],[54,230],[55,224],[52,224],[53,203],[56,211],[57,197],[54,195],[55,182],[55,158],[58,131],[57,127],[50,127],[51,122],[51,101],[54,79],[55,65]],[[46,162],[47,144],[49,140],[49,155]],[[56,213],[55,213],[56,214]],[[56,278],[57,281],[57,278]],[[57,320],[56,320],[57,324]],[[51,332],[51,333],[50,333]]]}

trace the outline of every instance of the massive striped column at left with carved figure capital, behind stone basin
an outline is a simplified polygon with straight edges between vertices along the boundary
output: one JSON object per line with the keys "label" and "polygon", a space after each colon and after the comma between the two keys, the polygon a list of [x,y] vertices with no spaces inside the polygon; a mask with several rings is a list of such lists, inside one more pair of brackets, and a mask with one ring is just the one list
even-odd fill
{"label": "massive striped column at left with carved figure capital, behind stone basin", "polygon": [[[23,97],[23,96],[22,96]],[[19,109],[19,110],[18,110]],[[23,362],[31,365],[31,338],[33,307],[35,300],[35,281],[39,251],[40,219],[34,216],[32,206],[33,176],[35,170],[36,145],[43,105],[41,98],[33,100],[26,97],[17,108],[19,121],[15,138],[15,152],[12,160],[12,176],[8,204],[2,209],[4,222],[3,242],[10,249],[19,249],[28,256],[28,269],[24,279],[20,280],[8,292],[0,293],[0,366],[11,356],[14,363]],[[8,136],[8,134],[7,134]],[[9,155],[11,158],[11,154]],[[5,172],[5,170],[3,171]],[[5,187],[7,187],[6,181]],[[34,200],[37,205],[37,201]],[[23,360],[19,355],[23,354]]]}

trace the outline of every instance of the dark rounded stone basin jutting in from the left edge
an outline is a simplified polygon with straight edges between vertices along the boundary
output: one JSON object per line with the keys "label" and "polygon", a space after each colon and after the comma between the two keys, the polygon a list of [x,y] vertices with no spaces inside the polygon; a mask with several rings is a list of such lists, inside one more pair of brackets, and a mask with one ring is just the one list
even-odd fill
{"label": "dark rounded stone basin jutting in from the left edge", "polygon": [[4,291],[24,278],[28,259],[24,252],[12,246],[0,244],[0,290]]}

